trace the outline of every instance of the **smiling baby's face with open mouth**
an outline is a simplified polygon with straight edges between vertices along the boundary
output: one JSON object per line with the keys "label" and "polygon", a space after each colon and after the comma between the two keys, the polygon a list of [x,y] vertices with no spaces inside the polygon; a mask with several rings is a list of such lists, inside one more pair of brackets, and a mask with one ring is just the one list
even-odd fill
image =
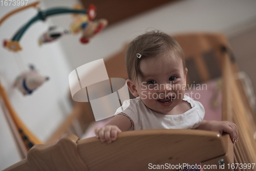
{"label": "smiling baby's face with open mouth", "polygon": [[136,90],[143,103],[160,114],[172,114],[185,94],[187,70],[182,60],[173,55],[150,58],[141,61],[140,69],[144,80],[136,83]]}

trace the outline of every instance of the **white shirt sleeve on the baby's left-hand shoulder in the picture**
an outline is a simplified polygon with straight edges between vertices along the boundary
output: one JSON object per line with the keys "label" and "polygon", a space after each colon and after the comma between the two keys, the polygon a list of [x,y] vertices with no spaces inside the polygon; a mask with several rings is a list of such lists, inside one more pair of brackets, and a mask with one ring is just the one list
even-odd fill
{"label": "white shirt sleeve on the baby's left-hand shoulder in the picture", "polygon": [[139,123],[139,112],[137,106],[137,100],[130,99],[125,100],[123,105],[116,110],[115,115],[125,114],[124,116],[128,117],[131,120],[132,127],[130,130],[134,130],[134,126],[138,127]]}

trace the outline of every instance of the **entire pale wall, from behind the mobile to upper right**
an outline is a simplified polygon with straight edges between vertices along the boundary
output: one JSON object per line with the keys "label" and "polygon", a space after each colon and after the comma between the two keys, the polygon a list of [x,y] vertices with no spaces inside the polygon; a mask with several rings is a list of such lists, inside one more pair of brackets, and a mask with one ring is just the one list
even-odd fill
{"label": "entire pale wall, from behind the mobile to upper right", "polygon": [[[31,3],[32,1],[30,1]],[[73,6],[76,0],[44,0],[47,8]],[[1,7],[0,17],[15,7]],[[80,35],[66,36],[57,43],[38,48],[37,37],[49,24],[37,24],[30,27],[20,41],[24,51],[20,52],[26,63],[32,62],[41,74],[51,77],[32,96],[23,97],[10,88],[10,81],[19,73],[12,53],[0,48],[0,79],[8,89],[15,110],[28,127],[41,140],[45,140],[61,120],[60,99],[68,92],[68,74],[84,63],[104,58],[120,50],[126,41],[144,33],[148,28],[159,29],[167,33],[212,31],[224,32],[231,37],[244,31],[248,26],[256,25],[256,1],[254,0],[185,0],[170,3],[132,17],[106,28],[93,38],[88,45],[81,45]],[[114,12],[114,11],[110,11]],[[0,27],[0,39],[10,38],[18,27],[24,24],[34,10],[15,15]],[[51,17],[54,25],[69,28],[70,15]],[[4,33],[4,34],[3,34]],[[53,118],[55,117],[55,118]],[[3,124],[2,124],[3,123]],[[19,160],[8,127],[0,111],[0,169]],[[4,138],[2,140],[2,137]]]}

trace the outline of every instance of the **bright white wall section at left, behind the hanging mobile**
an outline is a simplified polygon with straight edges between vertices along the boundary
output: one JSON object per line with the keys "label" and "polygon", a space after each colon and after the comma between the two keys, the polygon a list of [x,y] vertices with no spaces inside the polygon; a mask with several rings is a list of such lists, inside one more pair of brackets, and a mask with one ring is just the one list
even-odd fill
{"label": "bright white wall section at left, behind the hanging mobile", "polygon": [[[33,1],[29,1],[32,3]],[[0,18],[17,6],[0,6]],[[49,24],[37,22],[32,25],[20,40],[23,51],[15,54],[2,47],[3,39],[11,39],[20,26],[24,25],[37,13],[28,9],[11,16],[0,27],[0,80],[8,92],[10,101],[18,116],[28,128],[41,140],[46,141],[63,115],[70,112],[67,106],[69,82],[68,74],[72,71],[65,54],[58,43],[38,47],[37,39],[48,29]],[[32,63],[41,75],[50,80],[32,95],[23,96],[12,88],[15,77],[20,73],[15,58],[22,58],[25,65]],[[20,160],[14,139],[0,107],[0,170]]]}

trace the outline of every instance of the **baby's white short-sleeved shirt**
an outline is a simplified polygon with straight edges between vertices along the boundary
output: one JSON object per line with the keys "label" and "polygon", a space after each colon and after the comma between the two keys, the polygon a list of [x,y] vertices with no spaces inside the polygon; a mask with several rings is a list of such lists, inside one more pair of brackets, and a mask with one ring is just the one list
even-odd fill
{"label": "baby's white short-sleeved shirt", "polygon": [[[191,109],[180,115],[159,114],[147,108],[140,97],[125,100],[122,107],[117,109],[115,115],[126,114],[134,122],[133,130],[195,129],[204,118],[204,107],[199,101],[195,101],[186,95],[183,100],[190,103]],[[125,110],[122,111],[122,108]]]}

